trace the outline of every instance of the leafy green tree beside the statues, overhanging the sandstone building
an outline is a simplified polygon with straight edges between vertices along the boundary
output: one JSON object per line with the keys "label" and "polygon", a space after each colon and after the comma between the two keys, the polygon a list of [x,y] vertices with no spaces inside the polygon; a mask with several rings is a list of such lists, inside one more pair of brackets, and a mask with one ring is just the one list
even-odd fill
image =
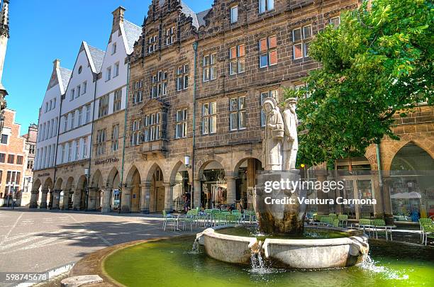
{"label": "leafy green tree beside the statues, overhanging the sandstone building", "polygon": [[433,1],[377,0],[341,16],[311,43],[321,63],[299,97],[299,162],[364,154],[394,135],[394,115],[433,103]]}

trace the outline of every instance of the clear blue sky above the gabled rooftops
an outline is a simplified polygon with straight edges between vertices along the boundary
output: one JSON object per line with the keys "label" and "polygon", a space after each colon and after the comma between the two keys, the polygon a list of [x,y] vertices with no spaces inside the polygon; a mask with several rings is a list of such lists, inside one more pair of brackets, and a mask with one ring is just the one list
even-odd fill
{"label": "clear blue sky above the gabled rooftops", "polygon": [[[72,69],[86,40],[106,49],[112,15],[118,6],[126,8],[126,19],[141,26],[151,0],[11,0],[10,34],[6,51],[3,84],[9,96],[8,108],[16,110],[21,133],[38,123],[52,72],[52,61]],[[211,8],[213,0],[184,0],[196,12]]]}

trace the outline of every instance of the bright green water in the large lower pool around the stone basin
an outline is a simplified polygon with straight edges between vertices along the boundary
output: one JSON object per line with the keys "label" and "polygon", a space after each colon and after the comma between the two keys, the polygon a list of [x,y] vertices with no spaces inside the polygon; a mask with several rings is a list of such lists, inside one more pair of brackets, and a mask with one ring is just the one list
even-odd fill
{"label": "bright green water in the large lower pool around the stone basin", "polygon": [[[227,264],[191,252],[193,236],[120,249],[104,261],[111,278],[125,286],[434,286],[434,248],[369,240],[360,266],[317,271]],[[203,247],[201,247],[203,248]]]}

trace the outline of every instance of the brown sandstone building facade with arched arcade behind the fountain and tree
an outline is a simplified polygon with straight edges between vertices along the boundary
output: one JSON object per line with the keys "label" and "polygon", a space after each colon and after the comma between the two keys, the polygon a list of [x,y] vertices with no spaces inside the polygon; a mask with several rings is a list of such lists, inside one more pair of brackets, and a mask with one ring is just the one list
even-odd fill
{"label": "brown sandstone building facade with arched arcade behind the fountain and tree", "polygon": [[[339,25],[340,13],[360,4],[215,0],[211,9],[195,13],[182,1],[152,1],[127,59],[124,118],[119,113],[93,122],[87,190],[102,194],[105,211],[252,208],[251,191],[262,169],[262,101],[282,101],[284,87],[303,85],[302,77],[318,68],[308,54],[310,41],[326,25]],[[372,146],[365,157],[336,161],[330,176],[347,184],[327,196],[376,198],[376,206],[318,206],[313,211],[354,219],[393,213],[404,221],[411,221],[413,210],[429,213],[432,181],[398,179],[388,171],[418,170],[408,165],[408,153],[421,157],[425,171],[433,170],[433,117],[433,107],[421,106],[408,118],[396,119],[401,141],[385,138],[379,157]],[[125,145],[118,152],[101,152],[113,137],[101,137],[99,130],[116,123]],[[62,182],[72,176],[84,188],[81,168],[57,176]],[[316,176],[327,179],[327,174]]]}

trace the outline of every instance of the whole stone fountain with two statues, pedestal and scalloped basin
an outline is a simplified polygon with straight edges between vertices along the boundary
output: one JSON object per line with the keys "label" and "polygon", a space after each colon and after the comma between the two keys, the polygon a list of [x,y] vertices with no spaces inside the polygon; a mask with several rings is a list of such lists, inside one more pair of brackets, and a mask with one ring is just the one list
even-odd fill
{"label": "whole stone fountain with two statues, pedestal and scalloped basin", "polygon": [[[277,101],[265,99],[262,104],[267,120],[262,141],[262,165],[265,171],[257,176],[254,203],[257,222],[262,233],[279,235],[279,239],[225,235],[208,228],[196,235],[209,257],[233,264],[250,264],[252,256],[269,259],[280,266],[296,269],[326,269],[352,266],[369,251],[367,236],[360,230],[319,227],[345,236],[332,239],[294,239],[304,233],[306,206],[297,197],[306,197],[303,188],[286,186],[269,191],[267,181],[300,181],[295,169],[298,150],[296,99],[287,99],[283,115]],[[268,198],[266,200],[266,198]],[[270,198],[279,204],[267,204]],[[292,198],[292,199],[291,199]],[[282,204],[283,202],[283,204]],[[227,227],[227,226],[226,226]],[[284,236],[284,239],[282,238]],[[286,238],[287,237],[287,238]]]}

